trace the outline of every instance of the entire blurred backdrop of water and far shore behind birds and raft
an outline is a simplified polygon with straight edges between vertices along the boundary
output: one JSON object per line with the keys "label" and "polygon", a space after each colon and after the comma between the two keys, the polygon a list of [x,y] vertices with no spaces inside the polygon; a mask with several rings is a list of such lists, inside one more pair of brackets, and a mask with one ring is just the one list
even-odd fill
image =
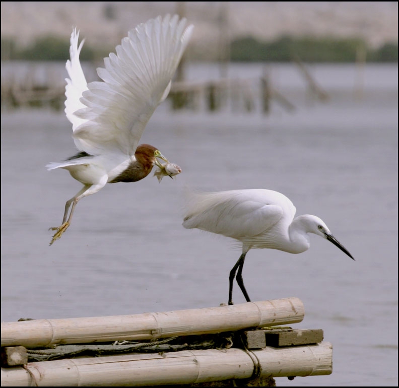
{"label": "entire blurred backdrop of water and far shore behind birds and raft", "polygon": [[[328,376],[280,386],[397,386],[397,2],[2,2],[2,321],[217,306],[240,249],[181,226],[184,189],[269,188],[322,218],[300,255],[251,250],[252,300],[299,297],[333,344]],[[63,112],[73,26],[88,81],[129,29],[194,24],[142,143],[182,167],[107,185],[45,169],[76,150]],[[235,303],[244,302],[234,286]]]}

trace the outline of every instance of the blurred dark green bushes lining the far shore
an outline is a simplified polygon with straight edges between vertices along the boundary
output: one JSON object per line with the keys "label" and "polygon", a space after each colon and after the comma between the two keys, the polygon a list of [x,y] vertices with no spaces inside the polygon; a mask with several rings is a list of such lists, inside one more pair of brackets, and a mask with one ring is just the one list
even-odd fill
{"label": "blurred dark green bushes lining the far shore", "polygon": [[[54,36],[38,38],[31,46],[18,47],[12,38],[2,38],[2,60],[60,60],[69,58],[69,40]],[[113,48],[96,48],[85,44],[82,61],[101,59]],[[367,62],[397,62],[397,42],[372,49],[357,38],[283,36],[274,41],[253,37],[236,39],[230,44],[230,60],[254,62],[288,62],[299,57],[304,62],[354,62],[362,55]],[[193,55],[191,55],[192,57]],[[201,60],[200,57],[193,58]]]}

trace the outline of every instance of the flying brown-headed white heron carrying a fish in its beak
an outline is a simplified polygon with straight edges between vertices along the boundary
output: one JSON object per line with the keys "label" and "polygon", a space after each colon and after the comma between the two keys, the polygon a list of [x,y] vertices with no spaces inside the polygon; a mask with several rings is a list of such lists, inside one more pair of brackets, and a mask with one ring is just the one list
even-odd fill
{"label": "flying brown-headed white heron carrying a fish in its beak", "polygon": [[145,178],[154,165],[160,169],[155,173],[159,181],[181,172],[156,147],[138,143],[154,110],[169,94],[192,29],[192,25],[186,27],[185,18],[179,20],[177,15],[140,24],[116,46],[116,54],[104,58],[105,69],[97,69],[102,81],[89,84],[79,60],[84,40],[78,46],[79,31],[73,30],[71,59],[66,61],[69,79],[65,114],[72,123],[79,152],[46,167],[64,168],[84,186],[66,201],[62,224],[50,228],[56,231],[50,245],[69,227],[78,201],[106,183],[136,182]]}

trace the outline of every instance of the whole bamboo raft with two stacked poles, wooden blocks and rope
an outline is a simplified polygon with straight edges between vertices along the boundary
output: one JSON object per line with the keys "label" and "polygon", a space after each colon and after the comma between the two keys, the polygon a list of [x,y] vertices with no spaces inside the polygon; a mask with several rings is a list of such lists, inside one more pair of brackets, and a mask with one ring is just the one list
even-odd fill
{"label": "whole bamboo raft with two stacked poles, wooden blocks and rope", "polygon": [[298,298],[86,318],[2,323],[2,386],[275,386],[327,375],[323,332]]}

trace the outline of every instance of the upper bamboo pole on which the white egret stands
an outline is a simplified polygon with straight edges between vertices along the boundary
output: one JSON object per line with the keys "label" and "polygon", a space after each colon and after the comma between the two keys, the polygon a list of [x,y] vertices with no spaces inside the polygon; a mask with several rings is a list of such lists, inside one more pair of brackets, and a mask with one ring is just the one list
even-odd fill
{"label": "upper bamboo pole on which the white egret stands", "polygon": [[300,299],[247,302],[135,315],[37,319],[2,322],[2,346],[45,347],[56,344],[154,340],[237,331],[301,322]]}

